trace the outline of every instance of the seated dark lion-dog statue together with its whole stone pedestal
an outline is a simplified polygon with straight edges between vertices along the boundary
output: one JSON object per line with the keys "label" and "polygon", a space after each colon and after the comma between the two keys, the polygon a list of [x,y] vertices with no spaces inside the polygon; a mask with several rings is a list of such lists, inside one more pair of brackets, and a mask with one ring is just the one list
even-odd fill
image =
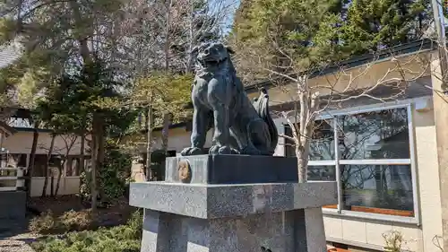
{"label": "seated dark lion-dog statue together with its whole stone pedestal", "polygon": [[250,103],[222,44],[198,51],[192,146],[167,159],[165,181],[130,187],[130,204],[144,208],[141,251],[326,251],[321,207],[337,203],[336,183],[297,183],[296,158],[271,156],[266,92]]}

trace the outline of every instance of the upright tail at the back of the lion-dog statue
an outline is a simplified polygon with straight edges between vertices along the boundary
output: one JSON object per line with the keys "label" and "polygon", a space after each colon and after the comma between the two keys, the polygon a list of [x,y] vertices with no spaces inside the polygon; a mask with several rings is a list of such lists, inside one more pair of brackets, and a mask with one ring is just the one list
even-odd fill
{"label": "upright tail at the back of the lion-dog statue", "polygon": [[274,120],[271,117],[271,113],[269,113],[269,96],[266,89],[262,89],[260,91],[260,96],[254,101],[254,108],[257,114],[268,125],[269,134],[271,137],[271,146],[268,146],[268,152],[272,155],[275,152],[277,143],[279,143],[279,133],[274,124]]}

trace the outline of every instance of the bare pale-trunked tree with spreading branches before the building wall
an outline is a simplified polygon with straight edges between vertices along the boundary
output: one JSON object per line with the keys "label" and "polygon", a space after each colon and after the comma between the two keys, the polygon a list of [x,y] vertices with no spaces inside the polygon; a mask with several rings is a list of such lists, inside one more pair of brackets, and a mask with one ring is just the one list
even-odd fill
{"label": "bare pale-trunked tree with spreading branches before the building wall", "polygon": [[[390,67],[381,75],[373,74],[372,68],[378,58],[358,67],[350,69],[347,65],[304,65],[300,56],[287,48],[278,46],[272,40],[273,48],[277,49],[276,60],[266,61],[260,50],[251,50],[250,56],[256,62],[261,73],[264,73],[274,83],[275,87],[285,94],[291,109],[282,110],[278,114],[290,128],[291,135],[280,135],[294,147],[297,156],[297,173],[299,182],[306,182],[307,167],[311,143],[322,141],[315,139],[318,116],[325,115],[329,110],[340,108],[350,100],[363,98],[384,102],[398,100],[410,83],[428,73],[428,66],[417,67],[421,62],[419,55],[391,58]],[[279,63],[278,65],[272,62]],[[332,74],[322,74],[329,68],[335,68]],[[371,83],[361,82],[367,74],[373,74]],[[323,78],[310,76],[323,75]],[[386,91],[384,91],[384,89]],[[379,91],[378,90],[383,90]],[[275,102],[275,101],[274,101]]]}

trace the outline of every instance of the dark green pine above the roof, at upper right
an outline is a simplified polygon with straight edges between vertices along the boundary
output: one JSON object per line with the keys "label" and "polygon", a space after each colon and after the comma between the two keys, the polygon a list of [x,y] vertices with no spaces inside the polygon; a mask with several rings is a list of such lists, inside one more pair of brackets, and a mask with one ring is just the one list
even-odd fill
{"label": "dark green pine above the roof, at upper right", "polygon": [[427,0],[354,0],[342,40],[348,55],[420,39],[429,21]]}

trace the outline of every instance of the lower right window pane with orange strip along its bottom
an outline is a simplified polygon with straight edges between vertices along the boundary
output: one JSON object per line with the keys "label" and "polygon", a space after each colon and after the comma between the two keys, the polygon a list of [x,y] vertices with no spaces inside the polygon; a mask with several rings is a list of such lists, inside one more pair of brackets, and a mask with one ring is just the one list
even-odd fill
{"label": "lower right window pane with orange strip along its bottom", "polygon": [[341,165],[343,209],[414,216],[409,165]]}

